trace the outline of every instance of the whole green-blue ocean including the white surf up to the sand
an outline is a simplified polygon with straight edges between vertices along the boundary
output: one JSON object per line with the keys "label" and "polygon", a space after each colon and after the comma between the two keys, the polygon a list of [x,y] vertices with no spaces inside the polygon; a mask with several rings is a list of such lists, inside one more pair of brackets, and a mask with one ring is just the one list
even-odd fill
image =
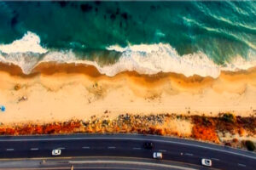
{"label": "whole green-blue ocean including the white surf up to the sand", "polygon": [[0,62],[218,77],[256,66],[256,2],[0,2]]}

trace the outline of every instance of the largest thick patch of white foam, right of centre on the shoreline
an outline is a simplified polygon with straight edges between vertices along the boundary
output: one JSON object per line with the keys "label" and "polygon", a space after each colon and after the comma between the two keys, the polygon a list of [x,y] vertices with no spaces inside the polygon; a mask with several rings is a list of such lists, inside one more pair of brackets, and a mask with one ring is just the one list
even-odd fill
{"label": "largest thick patch of white foam, right of centre on the shoreline", "polygon": [[[220,68],[206,54],[201,52],[180,56],[169,44],[132,45],[127,48],[111,46],[109,50],[122,52],[119,61],[111,66],[104,66],[113,76],[120,71],[137,71],[141,74],[155,74],[160,71],[182,73],[186,77],[218,77]],[[112,67],[112,69],[110,69]]]}

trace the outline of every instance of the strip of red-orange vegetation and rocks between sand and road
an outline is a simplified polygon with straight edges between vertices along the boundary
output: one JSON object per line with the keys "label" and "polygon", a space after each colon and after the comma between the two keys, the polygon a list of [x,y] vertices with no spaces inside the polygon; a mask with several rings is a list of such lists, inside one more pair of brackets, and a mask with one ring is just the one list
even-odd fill
{"label": "strip of red-orange vegetation and rocks between sand and road", "polygon": [[[72,120],[69,122],[54,122],[44,125],[23,124],[16,126],[0,126],[0,135],[32,135],[32,134],[66,134],[66,133],[143,133],[157,135],[183,136],[177,131],[166,126],[170,119],[192,120],[191,138],[220,143],[218,132],[255,134],[256,118],[233,116],[223,114],[218,117],[207,116],[177,116],[162,114],[157,116],[120,115],[109,120],[92,116],[90,121],[83,122]],[[164,126],[162,126],[164,125]],[[238,143],[237,139],[229,141],[230,144]],[[229,144],[227,144],[229,145]]]}

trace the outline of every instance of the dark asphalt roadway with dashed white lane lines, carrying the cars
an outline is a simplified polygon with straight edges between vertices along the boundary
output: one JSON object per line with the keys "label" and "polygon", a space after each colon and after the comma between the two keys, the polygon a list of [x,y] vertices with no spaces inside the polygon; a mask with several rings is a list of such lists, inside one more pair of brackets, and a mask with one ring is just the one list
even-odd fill
{"label": "dark asphalt roadway with dashed white lane lines, carrying the cars", "polygon": [[[143,143],[146,141],[154,143],[153,150],[143,148]],[[73,134],[0,137],[0,159],[2,161],[9,158],[42,159],[42,157],[53,157],[51,156],[53,149],[61,149],[61,157],[70,158],[129,157],[137,158],[137,160],[157,161],[156,163],[160,164],[163,161],[175,161],[194,166],[201,166],[201,158],[208,158],[212,160],[212,167],[217,169],[253,170],[256,168],[256,154],[253,152],[236,150],[217,144],[154,135]],[[162,152],[163,160],[153,160],[154,151]]]}

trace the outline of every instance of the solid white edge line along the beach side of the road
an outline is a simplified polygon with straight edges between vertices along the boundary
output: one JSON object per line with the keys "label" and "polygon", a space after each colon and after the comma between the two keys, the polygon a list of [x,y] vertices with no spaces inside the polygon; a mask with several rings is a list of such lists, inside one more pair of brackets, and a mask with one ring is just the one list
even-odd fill
{"label": "solid white edge line along the beach side of the road", "polygon": [[[61,139],[61,138],[50,138],[50,139],[0,139],[0,142],[20,142],[20,141],[50,141],[50,140],[78,140],[78,139],[129,139],[129,140],[140,140],[140,141],[144,141],[145,139],[135,139],[135,138],[127,138],[127,137],[102,137],[102,138],[88,138],[88,137],[74,137],[74,138],[64,138],[64,139]],[[217,148],[211,148],[210,146],[207,147],[207,146],[202,146],[202,145],[199,145],[199,144],[188,144],[188,143],[184,143],[184,142],[175,142],[175,141],[168,141],[166,139],[150,139],[152,142],[161,142],[161,143],[169,143],[169,144],[183,144],[183,145],[188,145],[188,146],[194,146],[194,147],[198,147],[198,148],[203,148],[203,149],[207,149],[207,150],[217,150],[219,152],[225,152],[225,153],[229,153],[229,154],[233,154],[233,155],[236,155],[236,156],[245,156],[245,157],[248,157],[248,158],[251,158],[251,159],[255,159],[256,160],[256,156],[248,156],[248,155],[245,155],[245,154],[241,154],[241,153],[236,153],[234,151],[230,151],[230,150],[223,150],[222,149],[217,149]],[[187,141],[189,142],[189,141]],[[213,144],[212,144],[213,145]],[[218,146],[218,145],[214,145],[215,147]],[[220,147],[220,146],[218,146]]]}

